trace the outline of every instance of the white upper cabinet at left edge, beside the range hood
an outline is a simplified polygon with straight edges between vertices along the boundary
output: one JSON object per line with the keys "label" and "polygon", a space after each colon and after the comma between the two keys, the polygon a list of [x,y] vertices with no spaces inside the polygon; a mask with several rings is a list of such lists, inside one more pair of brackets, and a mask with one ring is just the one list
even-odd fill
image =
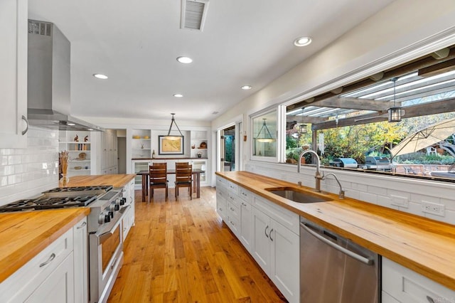
{"label": "white upper cabinet at left edge, beside the range hood", "polygon": [[0,1],[0,148],[26,148],[27,0]]}

